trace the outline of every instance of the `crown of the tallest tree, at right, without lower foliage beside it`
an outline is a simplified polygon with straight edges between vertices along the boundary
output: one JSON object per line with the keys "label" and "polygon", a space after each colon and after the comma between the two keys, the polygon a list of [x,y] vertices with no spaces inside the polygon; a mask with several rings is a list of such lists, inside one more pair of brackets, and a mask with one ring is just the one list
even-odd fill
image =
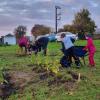
{"label": "crown of the tallest tree, at right, without lower foliage beside it", "polygon": [[95,31],[95,22],[90,17],[90,12],[87,9],[82,9],[80,12],[75,14],[75,19],[73,20],[73,26],[76,28],[78,33]]}

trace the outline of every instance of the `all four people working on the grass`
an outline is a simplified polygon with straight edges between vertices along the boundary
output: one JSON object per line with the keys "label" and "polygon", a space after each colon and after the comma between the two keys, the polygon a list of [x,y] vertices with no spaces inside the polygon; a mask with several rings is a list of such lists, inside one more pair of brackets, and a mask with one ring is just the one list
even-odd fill
{"label": "all four people working on the grass", "polygon": [[[89,54],[89,67],[95,66],[95,61],[94,61],[94,54],[96,51],[96,47],[93,43],[93,39],[91,36],[89,36],[87,33],[85,33],[85,38],[87,40],[87,45],[83,47],[82,51],[88,51]],[[75,46],[73,43],[74,38],[66,36],[64,33],[61,34],[61,43],[62,43],[62,51],[64,53],[64,57],[62,60],[68,61],[67,67],[70,67],[72,64],[72,58],[75,60],[75,64],[77,68],[80,68],[80,60],[77,55],[75,55],[74,50]],[[43,50],[43,54],[47,54],[47,46],[48,46],[49,38],[48,37],[41,37],[38,40],[35,41],[34,44],[30,44],[28,39],[23,36],[19,39],[18,44],[21,50],[23,50],[23,47],[25,48],[25,53],[34,51],[35,54]],[[61,64],[62,60],[60,61]]]}

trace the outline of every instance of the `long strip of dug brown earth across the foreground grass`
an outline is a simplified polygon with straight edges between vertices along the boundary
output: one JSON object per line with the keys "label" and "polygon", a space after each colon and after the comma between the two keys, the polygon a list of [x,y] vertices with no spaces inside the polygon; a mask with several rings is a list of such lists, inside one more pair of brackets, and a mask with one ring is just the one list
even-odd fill
{"label": "long strip of dug brown earth across the foreground grass", "polygon": [[[26,86],[30,84],[38,84],[38,82],[47,82],[49,87],[52,85],[59,86],[61,84],[64,85],[67,91],[70,91],[74,88],[75,83],[78,79],[77,73],[68,72],[71,75],[71,79],[63,79],[63,77],[57,77],[55,74],[49,72],[47,73],[46,70],[39,70],[37,69],[32,70],[31,72],[23,72],[23,71],[4,71],[3,77],[4,82],[0,84],[0,97],[5,99],[9,97],[12,93],[16,92],[16,90],[23,90]],[[52,80],[49,80],[49,78]],[[48,80],[47,80],[48,79]]]}

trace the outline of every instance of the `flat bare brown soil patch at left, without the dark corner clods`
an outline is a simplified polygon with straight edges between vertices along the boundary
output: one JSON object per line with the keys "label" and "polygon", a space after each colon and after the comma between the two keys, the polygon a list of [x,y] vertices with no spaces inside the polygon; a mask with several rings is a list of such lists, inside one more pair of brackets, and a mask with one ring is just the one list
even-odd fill
{"label": "flat bare brown soil patch at left, without the dark corner clods", "polygon": [[3,74],[4,79],[13,85],[14,88],[23,88],[31,80],[33,80],[34,73],[22,71],[10,71]]}

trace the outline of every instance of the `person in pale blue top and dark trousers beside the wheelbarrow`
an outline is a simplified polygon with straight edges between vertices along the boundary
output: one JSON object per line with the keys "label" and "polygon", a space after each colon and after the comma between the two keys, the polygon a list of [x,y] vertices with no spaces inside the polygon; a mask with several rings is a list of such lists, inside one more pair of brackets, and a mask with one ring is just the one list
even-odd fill
{"label": "person in pale blue top and dark trousers beside the wheelbarrow", "polygon": [[70,64],[72,63],[71,58],[73,57],[75,60],[75,64],[79,68],[79,58],[74,55],[74,44],[72,42],[72,39],[73,37],[66,36],[64,33],[61,34],[64,55],[66,56]]}

